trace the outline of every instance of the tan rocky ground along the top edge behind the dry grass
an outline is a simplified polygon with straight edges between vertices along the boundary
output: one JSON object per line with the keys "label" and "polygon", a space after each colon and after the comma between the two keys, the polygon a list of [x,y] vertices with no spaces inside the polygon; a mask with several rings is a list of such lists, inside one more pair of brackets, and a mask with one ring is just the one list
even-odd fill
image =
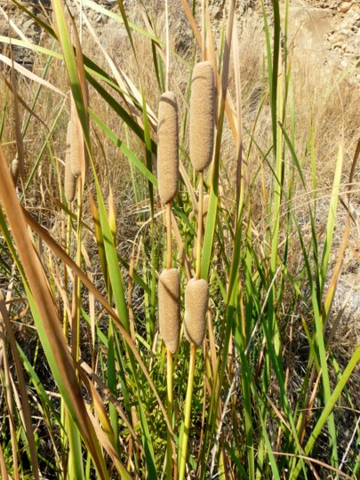
{"label": "tan rocky ground along the top edge behind the dry grass", "polygon": [[[269,0],[267,2],[269,4]],[[98,0],[97,4],[117,8],[114,0]],[[139,10],[137,0],[127,0],[125,7],[132,16]],[[164,10],[164,0],[149,0],[154,12]],[[210,12],[216,28],[220,32],[220,22],[226,11],[228,2],[224,0],[211,0]],[[241,24],[251,20],[262,22],[260,0],[237,1],[238,20]],[[46,15],[50,7],[50,0],[33,0],[28,8],[36,15]],[[29,20],[14,6],[0,0],[0,35],[9,35],[13,30],[9,27],[6,14],[8,13],[14,23],[30,38],[36,39],[39,29],[33,20]],[[170,18],[172,31],[178,37],[179,49],[186,47],[190,41],[191,33],[188,22],[182,12],[180,1],[170,0]],[[281,3],[281,13],[284,16],[284,2]],[[108,23],[108,18],[97,12],[91,13],[95,25],[100,28]],[[360,85],[360,2],[339,2],[337,0],[291,0],[289,9],[290,40],[304,54],[316,54],[324,61],[335,58],[344,75],[348,73],[350,82]],[[110,26],[109,26],[110,27]],[[215,32],[216,33],[216,32]],[[1,49],[1,47],[0,47]],[[31,66],[31,56],[24,57],[24,52],[16,52],[18,59],[26,66]]]}

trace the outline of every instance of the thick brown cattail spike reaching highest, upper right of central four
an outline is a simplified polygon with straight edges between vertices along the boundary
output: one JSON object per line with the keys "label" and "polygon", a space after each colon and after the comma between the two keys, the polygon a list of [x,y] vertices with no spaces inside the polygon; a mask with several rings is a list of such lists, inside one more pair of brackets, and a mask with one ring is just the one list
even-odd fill
{"label": "thick brown cattail spike reaching highest, upper right of central four", "polygon": [[191,83],[190,159],[196,172],[212,162],[215,85],[210,61],[197,63]]}

